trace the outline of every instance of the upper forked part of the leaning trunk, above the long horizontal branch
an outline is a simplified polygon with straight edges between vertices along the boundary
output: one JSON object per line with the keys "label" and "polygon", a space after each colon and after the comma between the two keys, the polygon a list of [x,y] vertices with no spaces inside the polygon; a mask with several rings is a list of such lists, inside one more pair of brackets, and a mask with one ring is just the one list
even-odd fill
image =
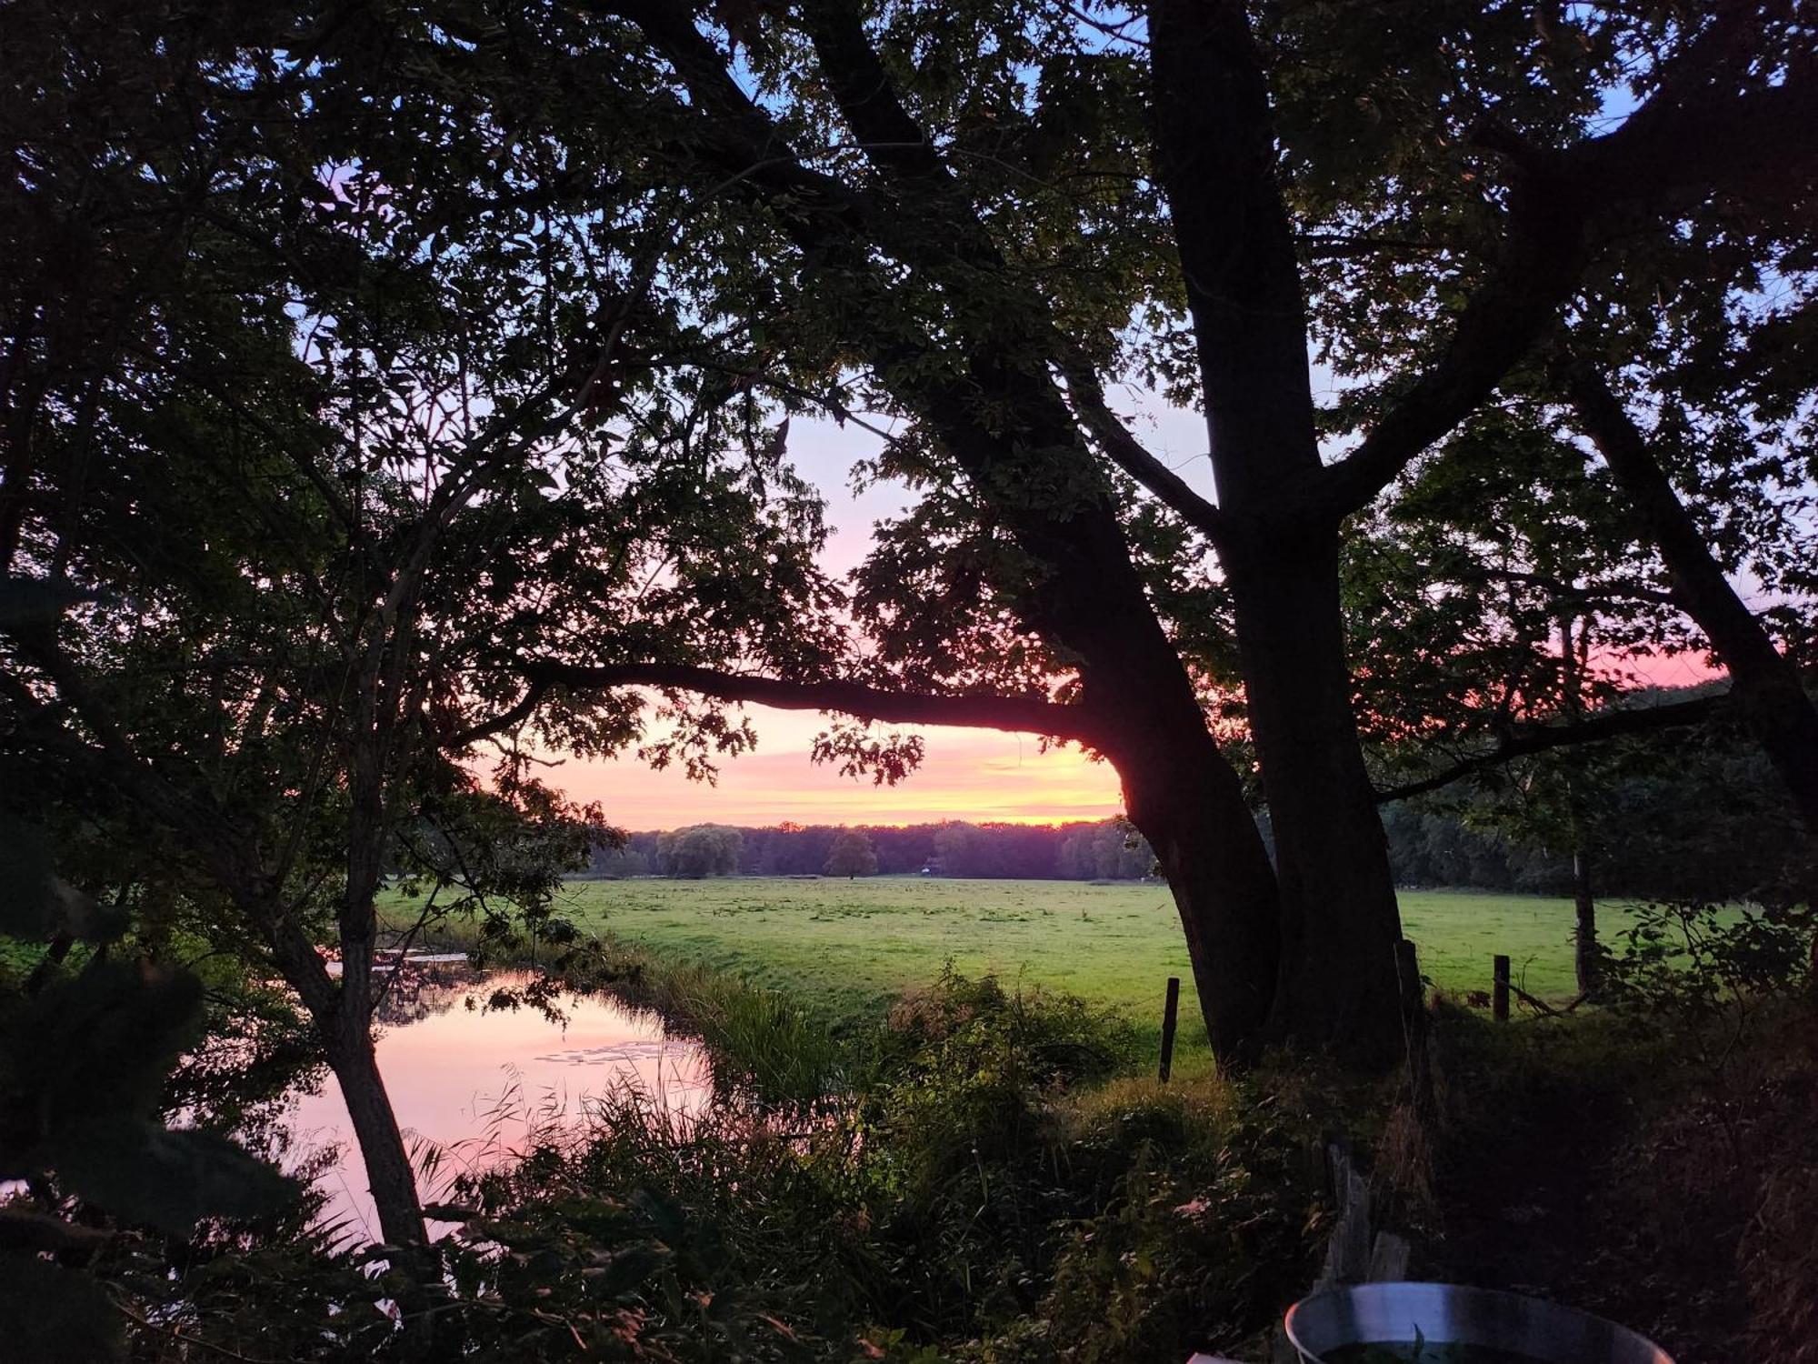
{"label": "upper forked part of the leaning trunk, above the long horizontal branch", "polygon": [[[1016,602],[1024,622],[1087,660],[1087,686],[1093,673],[1125,673],[1136,657],[1178,669],[1178,655],[1131,564],[1100,456],[1053,373],[1058,336],[1051,311],[1036,289],[1018,287],[1016,271],[1004,262],[965,186],[884,80],[887,73],[856,7],[849,0],[816,0],[802,11],[802,24],[822,55],[818,65],[833,98],[876,171],[876,186],[862,189],[829,184],[793,160],[776,118],[733,80],[727,58],[694,27],[685,5],[571,4],[627,18],[644,31],[687,87],[693,145],[718,169],[774,162],[740,184],[769,207],[813,269],[836,275],[836,287],[853,293],[851,315],[862,318],[847,338],[853,351],[940,440],[1024,553],[1051,569],[1040,589]],[[853,62],[842,65],[847,55]],[[920,291],[900,289],[880,256],[907,266],[936,293],[967,300],[953,309],[956,315],[974,311],[989,293],[989,320],[956,326],[964,335],[929,335],[913,296]],[[991,395],[993,415],[980,395]],[[1005,413],[1007,424],[998,416]],[[1062,467],[1060,482],[1085,489],[1085,496],[1056,502],[1051,486]]]}

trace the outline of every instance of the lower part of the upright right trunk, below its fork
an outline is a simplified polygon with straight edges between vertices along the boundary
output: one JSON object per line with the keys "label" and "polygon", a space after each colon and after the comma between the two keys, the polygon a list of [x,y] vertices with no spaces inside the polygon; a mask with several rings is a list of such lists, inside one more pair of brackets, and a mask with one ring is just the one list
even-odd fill
{"label": "lower part of the upright right trunk, below its fork", "polygon": [[1280,1040],[1387,1060],[1402,918],[1351,711],[1336,538],[1227,555],[1282,893]]}

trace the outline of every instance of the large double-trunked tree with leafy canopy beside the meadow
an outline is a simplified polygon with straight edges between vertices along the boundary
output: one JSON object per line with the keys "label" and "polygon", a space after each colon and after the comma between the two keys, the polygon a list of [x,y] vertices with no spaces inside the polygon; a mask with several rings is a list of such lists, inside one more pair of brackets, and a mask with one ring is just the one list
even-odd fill
{"label": "large double-trunked tree with leafy canopy beside the meadow", "polygon": [[[1811,375],[1760,351],[1798,335],[1807,289],[1818,120],[1791,9],[551,11],[569,20],[660,73],[627,98],[674,131],[669,175],[734,186],[749,255],[684,289],[727,318],[731,367],[784,409],[894,418],[862,475],[918,502],[814,669],[569,649],[540,684],[1091,746],[1238,1053],[1393,1046],[1364,740],[1482,758],[1576,737],[1600,684],[1536,686],[1565,609],[1574,640],[1620,600],[1598,618],[1618,649],[1718,649],[1813,813],[1818,717],[1774,644],[1809,607]],[[1214,496],[1118,418],[1125,382],[1204,407]],[[1767,624],[1723,580],[1745,564],[1783,593]],[[1356,587],[1374,620],[1345,613]]]}

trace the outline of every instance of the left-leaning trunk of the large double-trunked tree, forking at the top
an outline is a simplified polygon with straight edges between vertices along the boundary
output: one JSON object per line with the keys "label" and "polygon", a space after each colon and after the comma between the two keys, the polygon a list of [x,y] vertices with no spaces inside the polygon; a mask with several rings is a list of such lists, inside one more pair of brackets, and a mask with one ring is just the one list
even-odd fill
{"label": "left-leaning trunk of the large double-trunked tree, forking at the top", "polygon": [[[865,282],[874,293],[865,309],[874,322],[860,342],[865,358],[965,473],[974,498],[989,509],[989,524],[1007,531],[1034,562],[1036,571],[1027,580],[1005,584],[1005,595],[1016,600],[1018,615],[1034,633],[1078,660],[1082,697],[1093,709],[1118,717],[1118,733],[1105,751],[1124,777],[1134,824],[1151,838],[1174,886],[1207,1029],[1224,1053],[1253,1049],[1278,975],[1273,877],[1236,773],[1207,733],[1187,669],[1131,566],[1113,491],[1051,375],[1049,366],[1064,349],[1056,347],[1051,309],[1027,289],[1025,273],[1002,256],[971,195],[944,162],[938,140],[896,96],[856,9],[811,5],[804,11],[805,25],[833,96],[873,169],[911,215],[911,231],[898,231],[894,216],[873,218],[864,204],[847,202],[844,193],[824,202],[804,196],[800,167],[778,165],[778,149],[787,145],[778,129],[765,111],[738,93],[720,53],[704,42],[685,13],[642,4],[634,11],[634,22],[667,51],[713,120],[718,145],[729,153],[725,169],[767,195],[773,206],[782,206],[785,229],[822,262],[820,269],[840,271],[842,289]],[[1189,100],[1205,93],[1194,71],[1185,73],[1184,84]],[[1260,98],[1260,82],[1245,87],[1251,96]],[[1225,115],[1224,107],[1213,109],[1213,124],[1222,124]],[[1245,131],[1249,127],[1245,124]],[[1187,127],[1184,136],[1196,142],[1200,129]],[[1240,156],[1249,162],[1251,153],[1245,142]],[[1254,175],[1254,167],[1247,175]],[[1207,191],[1225,195],[1227,180],[1202,186],[1202,196]],[[1214,216],[1222,213],[1218,206]],[[1287,289],[1294,293],[1293,244],[1280,204],[1276,218],[1276,244],[1287,242]],[[965,327],[964,342],[924,338],[922,322],[894,306],[896,280],[873,269],[880,235],[887,238],[887,251],[925,284],[949,287],[967,300],[960,311],[978,316]],[[1196,236],[1196,229],[1185,235]],[[1207,244],[1222,262],[1229,256],[1220,242],[1207,238]],[[1240,271],[1247,264],[1236,262]],[[1194,276],[1193,260],[1187,260],[1187,273]],[[1214,280],[1214,275],[1205,278]],[[991,278],[1013,280],[1014,287],[994,295],[993,306],[980,315],[973,304],[985,296],[980,286]],[[1280,276],[1271,280],[1271,287],[1278,284]],[[1294,298],[1298,309],[1298,293]],[[1298,311],[1287,326],[1293,336],[1271,333],[1260,346],[1258,336],[1247,333],[1242,349],[1267,351],[1265,364],[1276,369],[1284,356],[1289,369],[1298,366],[1302,400],[1271,420],[1298,424],[1304,455],[1316,467]],[[953,373],[958,356],[964,356],[962,382],[954,382]],[[1238,378],[1233,386],[1245,384]],[[1209,407],[1218,396],[1209,393]],[[1267,393],[1262,400],[1269,404],[1273,396]],[[1260,427],[1253,433],[1269,438]],[[1251,458],[1267,462],[1274,453],[1258,446]],[[1374,806],[1369,809],[1374,817]],[[1396,1017],[1393,1004],[1391,997],[1391,1022]]]}

